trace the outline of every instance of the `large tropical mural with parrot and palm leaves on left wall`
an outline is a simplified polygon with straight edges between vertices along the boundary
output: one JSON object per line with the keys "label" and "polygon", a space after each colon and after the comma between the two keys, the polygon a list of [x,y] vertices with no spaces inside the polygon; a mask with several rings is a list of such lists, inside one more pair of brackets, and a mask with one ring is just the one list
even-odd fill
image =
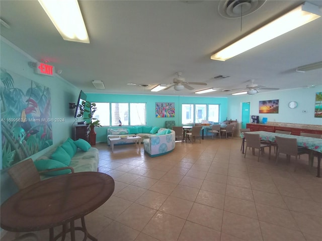
{"label": "large tropical mural with parrot and palm leaves on left wall", "polygon": [[2,168],[52,145],[50,89],[1,68]]}

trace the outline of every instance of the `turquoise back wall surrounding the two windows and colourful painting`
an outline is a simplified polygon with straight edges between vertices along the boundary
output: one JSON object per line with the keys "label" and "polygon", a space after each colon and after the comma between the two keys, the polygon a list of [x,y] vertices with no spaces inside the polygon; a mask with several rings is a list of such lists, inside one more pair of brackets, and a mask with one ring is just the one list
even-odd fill
{"label": "turquoise back wall surrounding the two windows and colourful painting", "polygon": [[[97,94],[86,93],[87,100],[90,102],[143,102],[146,103],[146,125],[165,127],[166,121],[175,121],[177,126],[181,124],[181,105],[182,104],[219,104],[219,121],[224,121],[227,117],[227,98],[215,97],[189,97],[172,95],[132,95],[132,94]],[[157,118],[155,117],[155,102],[174,102],[176,108],[175,117]],[[95,128],[97,142],[106,142],[108,127]]]}

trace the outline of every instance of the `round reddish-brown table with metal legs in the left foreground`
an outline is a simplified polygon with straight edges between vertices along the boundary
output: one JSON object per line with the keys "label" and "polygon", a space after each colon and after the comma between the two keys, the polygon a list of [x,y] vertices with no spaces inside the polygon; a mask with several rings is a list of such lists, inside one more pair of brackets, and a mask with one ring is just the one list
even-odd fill
{"label": "round reddish-brown table with metal legs in the left foreground", "polygon": [[[1,227],[14,232],[29,232],[49,228],[49,239],[64,239],[75,230],[90,235],[84,216],[105,203],[114,191],[111,176],[99,172],[78,172],[56,176],[20,190],[1,205]],[[81,218],[82,226],[74,227]],[[70,223],[70,227],[67,225]],[[54,237],[53,228],[62,225],[62,232]]]}

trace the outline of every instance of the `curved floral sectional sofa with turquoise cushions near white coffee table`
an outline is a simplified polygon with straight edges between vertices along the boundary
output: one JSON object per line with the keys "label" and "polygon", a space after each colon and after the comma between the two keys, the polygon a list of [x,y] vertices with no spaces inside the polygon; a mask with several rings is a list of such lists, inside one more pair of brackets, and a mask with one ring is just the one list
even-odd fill
{"label": "curved floral sectional sofa with turquoise cushions near white coffee table", "polygon": [[[122,136],[139,136],[142,138],[144,152],[151,157],[162,156],[172,152],[176,146],[176,133],[172,130],[160,128],[157,133],[135,133],[132,134],[130,129],[107,129],[107,143],[109,143],[109,137],[116,138]],[[140,131],[140,130],[139,130]],[[162,134],[162,132],[168,132],[168,134]],[[129,134],[130,132],[130,134]]]}

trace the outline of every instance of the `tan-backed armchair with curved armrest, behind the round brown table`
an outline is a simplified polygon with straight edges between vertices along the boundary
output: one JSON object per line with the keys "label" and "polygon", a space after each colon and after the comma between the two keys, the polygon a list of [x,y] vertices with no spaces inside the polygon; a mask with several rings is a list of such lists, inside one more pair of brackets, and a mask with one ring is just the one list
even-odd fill
{"label": "tan-backed armchair with curved armrest, behind the round brown table", "polygon": [[40,182],[40,173],[59,171],[64,169],[70,169],[72,173],[74,172],[74,169],[72,167],[55,168],[38,172],[33,160],[29,158],[12,166],[8,170],[8,174],[14,180],[18,188],[21,190],[26,187],[29,187],[32,184]]}

